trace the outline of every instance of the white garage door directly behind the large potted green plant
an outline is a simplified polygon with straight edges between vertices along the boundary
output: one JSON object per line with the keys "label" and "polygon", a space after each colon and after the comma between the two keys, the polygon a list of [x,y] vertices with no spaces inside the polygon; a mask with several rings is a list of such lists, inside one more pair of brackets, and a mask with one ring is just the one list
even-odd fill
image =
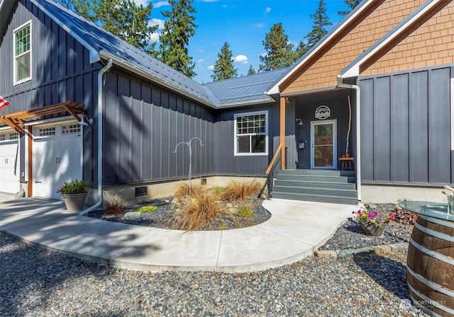
{"label": "white garage door directly behind the large potted green plant", "polygon": [[60,200],[63,183],[82,179],[82,137],[79,125],[34,128],[33,196]]}

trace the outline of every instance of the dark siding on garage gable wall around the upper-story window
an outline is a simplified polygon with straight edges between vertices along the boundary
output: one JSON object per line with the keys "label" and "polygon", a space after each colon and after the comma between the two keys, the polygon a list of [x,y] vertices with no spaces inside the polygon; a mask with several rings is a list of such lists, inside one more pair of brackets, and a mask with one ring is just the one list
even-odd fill
{"label": "dark siding on garage gable wall around the upper-story window", "polygon": [[[13,30],[31,21],[32,79],[13,85]],[[11,23],[1,35],[0,42],[0,95],[10,105],[0,110],[0,115],[40,108],[67,100],[84,103],[89,117],[96,113],[96,76],[100,64],[89,63],[88,51],[65,30],[53,22],[43,11],[20,1],[13,12]],[[33,120],[69,115],[56,113]],[[84,178],[90,183],[93,178],[93,162],[96,162],[96,129],[84,133]],[[96,142],[96,141],[95,141]],[[21,142],[25,153],[26,142]],[[25,161],[21,160],[21,171]],[[23,178],[22,178],[23,180]]]}

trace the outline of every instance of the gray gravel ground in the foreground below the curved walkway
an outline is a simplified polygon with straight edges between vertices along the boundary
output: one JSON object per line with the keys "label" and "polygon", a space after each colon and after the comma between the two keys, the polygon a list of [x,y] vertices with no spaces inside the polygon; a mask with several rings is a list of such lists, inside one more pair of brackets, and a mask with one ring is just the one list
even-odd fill
{"label": "gray gravel ground in the foreground below the curved walkway", "polygon": [[0,232],[0,316],[422,316],[406,253],[309,257],[243,274],[138,272]]}

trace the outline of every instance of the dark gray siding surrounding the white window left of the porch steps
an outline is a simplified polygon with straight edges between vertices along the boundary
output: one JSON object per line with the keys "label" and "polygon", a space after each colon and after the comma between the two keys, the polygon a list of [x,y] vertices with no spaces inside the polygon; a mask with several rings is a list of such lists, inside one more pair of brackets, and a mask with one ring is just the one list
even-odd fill
{"label": "dark gray siding surrounding the white window left of the porch steps", "polygon": [[[235,156],[234,118],[236,114],[268,111],[268,155]],[[214,161],[218,175],[265,175],[273,152],[273,139],[279,145],[279,105],[257,105],[255,107],[223,110],[216,117]],[[277,147],[277,146],[276,146]]]}

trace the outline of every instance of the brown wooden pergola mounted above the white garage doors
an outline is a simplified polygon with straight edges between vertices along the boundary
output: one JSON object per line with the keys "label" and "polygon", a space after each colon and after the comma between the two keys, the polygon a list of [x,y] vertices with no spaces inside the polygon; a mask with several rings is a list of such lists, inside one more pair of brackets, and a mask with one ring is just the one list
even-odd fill
{"label": "brown wooden pergola mounted above the white garage doors", "polygon": [[81,121],[80,115],[85,115],[84,103],[74,103],[73,101],[65,101],[64,103],[56,103],[55,105],[46,105],[45,107],[32,110],[21,111],[18,113],[10,113],[9,115],[0,116],[0,122],[6,123],[19,133],[25,132],[26,119],[31,117],[39,117],[41,115],[52,115],[54,113],[62,113],[67,111],[77,121]]}

